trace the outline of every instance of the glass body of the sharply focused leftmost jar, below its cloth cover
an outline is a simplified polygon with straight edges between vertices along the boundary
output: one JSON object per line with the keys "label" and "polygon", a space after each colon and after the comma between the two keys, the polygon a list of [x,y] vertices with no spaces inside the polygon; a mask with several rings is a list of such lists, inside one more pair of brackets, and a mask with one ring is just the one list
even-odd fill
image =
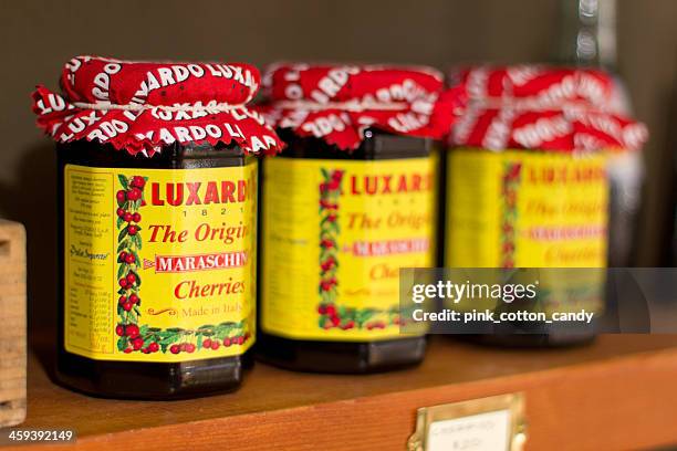
{"label": "glass body of the sharply focused leftmost jar, below its cloth cover", "polygon": [[236,389],[256,327],[254,157],[189,144],[145,158],[76,141],[58,161],[59,380],[116,398]]}

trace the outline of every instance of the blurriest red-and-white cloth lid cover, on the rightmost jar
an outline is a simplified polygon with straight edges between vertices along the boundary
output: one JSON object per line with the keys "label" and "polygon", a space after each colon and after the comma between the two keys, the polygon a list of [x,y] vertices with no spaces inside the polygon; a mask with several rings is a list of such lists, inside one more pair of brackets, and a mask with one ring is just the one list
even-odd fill
{"label": "blurriest red-and-white cloth lid cover, on the rightmost jar", "polygon": [[452,72],[468,106],[451,144],[492,150],[637,150],[644,124],[623,114],[604,71],[545,65],[477,66]]}

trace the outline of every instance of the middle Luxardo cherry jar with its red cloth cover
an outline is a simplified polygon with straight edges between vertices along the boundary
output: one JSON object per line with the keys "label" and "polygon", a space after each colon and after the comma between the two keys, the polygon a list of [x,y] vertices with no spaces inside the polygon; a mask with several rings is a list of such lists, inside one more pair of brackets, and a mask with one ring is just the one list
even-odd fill
{"label": "middle Luxardo cherry jar with its red cloth cover", "polygon": [[462,90],[427,67],[279,65],[265,80],[288,147],[263,164],[258,355],[331,373],[419,363],[399,269],[435,266],[430,144]]}

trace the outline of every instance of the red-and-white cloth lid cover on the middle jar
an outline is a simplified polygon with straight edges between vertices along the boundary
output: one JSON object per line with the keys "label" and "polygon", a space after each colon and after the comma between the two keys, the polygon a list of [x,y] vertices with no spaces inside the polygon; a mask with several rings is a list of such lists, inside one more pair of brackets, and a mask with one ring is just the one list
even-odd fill
{"label": "red-and-white cloth lid cover on the middle jar", "polygon": [[445,91],[430,67],[277,64],[263,84],[269,123],[344,150],[357,148],[367,128],[442,138],[465,102],[465,88]]}

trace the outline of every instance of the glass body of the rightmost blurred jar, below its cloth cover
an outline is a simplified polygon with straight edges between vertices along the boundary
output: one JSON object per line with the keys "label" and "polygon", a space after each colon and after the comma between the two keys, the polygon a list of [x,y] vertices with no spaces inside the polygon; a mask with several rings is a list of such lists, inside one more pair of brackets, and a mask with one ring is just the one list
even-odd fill
{"label": "glass body of the rightmost blurred jar, below its cloth cover", "polygon": [[[445,266],[533,269],[513,276],[539,284],[538,298],[499,310],[552,314],[575,306],[602,314],[604,273],[563,269],[606,266],[605,167],[603,154],[451,149]],[[564,346],[595,335],[594,324],[503,322],[492,333],[469,338],[503,346]]]}

